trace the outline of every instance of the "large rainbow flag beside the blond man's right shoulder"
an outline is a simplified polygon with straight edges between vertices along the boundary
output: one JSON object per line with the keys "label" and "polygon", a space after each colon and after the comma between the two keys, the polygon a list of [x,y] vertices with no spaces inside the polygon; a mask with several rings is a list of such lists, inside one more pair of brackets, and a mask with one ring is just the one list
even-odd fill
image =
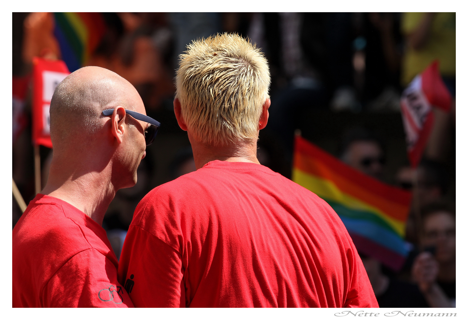
{"label": "large rainbow flag beside the blond man's right shoulder", "polygon": [[292,181],[325,200],[343,221],[359,252],[399,270],[408,248],[403,240],[411,193],[349,167],[296,137]]}

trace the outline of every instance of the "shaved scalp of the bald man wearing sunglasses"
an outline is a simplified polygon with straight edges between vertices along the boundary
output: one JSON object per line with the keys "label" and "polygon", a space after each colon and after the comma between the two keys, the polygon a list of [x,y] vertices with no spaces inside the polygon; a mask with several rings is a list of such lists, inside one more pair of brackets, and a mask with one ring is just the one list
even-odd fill
{"label": "shaved scalp of the bald man wearing sunglasses", "polygon": [[[68,75],[52,96],[51,139],[54,149],[73,137],[89,136],[102,129],[105,109],[123,106],[134,110],[141,101],[130,82],[110,70],[87,66]],[[131,121],[131,120],[130,120]]]}

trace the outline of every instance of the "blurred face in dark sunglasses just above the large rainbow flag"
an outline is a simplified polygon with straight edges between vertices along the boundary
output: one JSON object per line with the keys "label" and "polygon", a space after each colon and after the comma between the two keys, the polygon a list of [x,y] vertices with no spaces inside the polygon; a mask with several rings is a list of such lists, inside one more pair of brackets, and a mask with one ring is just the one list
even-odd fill
{"label": "blurred face in dark sunglasses just above the large rainbow flag", "polygon": [[353,141],[345,153],[344,160],[366,175],[377,179],[382,177],[385,159],[380,145],[375,141]]}

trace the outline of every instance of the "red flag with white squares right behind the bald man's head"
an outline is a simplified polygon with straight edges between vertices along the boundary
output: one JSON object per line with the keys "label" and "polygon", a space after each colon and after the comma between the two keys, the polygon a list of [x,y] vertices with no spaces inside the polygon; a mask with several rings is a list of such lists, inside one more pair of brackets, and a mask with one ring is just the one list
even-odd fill
{"label": "red flag with white squares right behind the bald man's head", "polygon": [[32,143],[52,147],[49,107],[55,87],[70,74],[62,60],[33,58]]}

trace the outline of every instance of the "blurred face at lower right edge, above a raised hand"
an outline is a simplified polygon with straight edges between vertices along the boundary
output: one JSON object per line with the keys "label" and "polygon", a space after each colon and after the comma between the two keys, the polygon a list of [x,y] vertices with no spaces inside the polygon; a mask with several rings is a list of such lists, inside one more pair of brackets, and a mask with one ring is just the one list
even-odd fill
{"label": "blurred face at lower right edge, above a raised hand", "polygon": [[455,261],[455,219],[445,211],[431,213],[424,219],[424,246],[436,248],[439,263]]}

